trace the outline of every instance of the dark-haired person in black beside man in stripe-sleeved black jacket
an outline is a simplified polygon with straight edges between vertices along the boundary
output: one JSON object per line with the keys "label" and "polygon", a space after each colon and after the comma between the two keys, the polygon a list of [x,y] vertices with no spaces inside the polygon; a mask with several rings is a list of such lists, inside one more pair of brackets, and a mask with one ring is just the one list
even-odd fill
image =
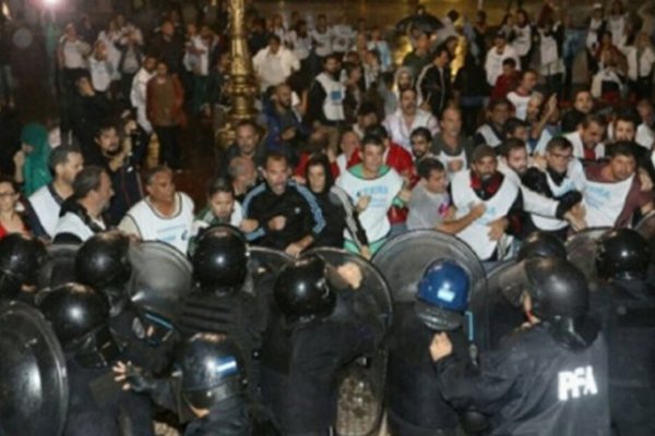
{"label": "dark-haired person in black beside man in stripe-sleeved black jacket", "polygon": [[350,233],[359,254],[370,257],[366,232],[357,218],[355,207],[341,187],[334,184],[327,157],[317,155],[309,159],[305,173],[307,186],[317,198],[325,218],[325,228],[314,241],[315,246],[344,246],[344,230]]}

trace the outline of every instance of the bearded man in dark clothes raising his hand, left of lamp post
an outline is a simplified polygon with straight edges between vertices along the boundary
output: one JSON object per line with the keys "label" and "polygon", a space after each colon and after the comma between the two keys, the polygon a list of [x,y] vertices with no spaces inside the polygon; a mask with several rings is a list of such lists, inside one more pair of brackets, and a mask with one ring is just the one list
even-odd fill
{"label": "bearded man in dark clothes raising his hand, left of lamp post", "polygon": [[139,154],[133,153],[139,136],[134,133],[136,133],[136,123],[130,120],[123,128],[122,137],[115,124],[109,122],[100,124],[95,134],[94,141],[98,146],[98,154],[94,156],[91,165],[107,170],[116,193],[107,210],[110,226],[118,225],[130,207],[143,198],[136,168]]}

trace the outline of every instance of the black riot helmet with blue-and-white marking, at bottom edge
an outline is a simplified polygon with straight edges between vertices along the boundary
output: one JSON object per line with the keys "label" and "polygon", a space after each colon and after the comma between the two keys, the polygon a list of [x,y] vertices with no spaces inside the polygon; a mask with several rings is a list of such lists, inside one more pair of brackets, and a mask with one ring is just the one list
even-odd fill
{"label": "black riot helmet with blue-and-white marking, at bottom edge", "polygon": [[182,373],[182,397],[195,409],[210,409],[245,395],[242,356],[224,335],[192,336],[181,346],[177,362]]}

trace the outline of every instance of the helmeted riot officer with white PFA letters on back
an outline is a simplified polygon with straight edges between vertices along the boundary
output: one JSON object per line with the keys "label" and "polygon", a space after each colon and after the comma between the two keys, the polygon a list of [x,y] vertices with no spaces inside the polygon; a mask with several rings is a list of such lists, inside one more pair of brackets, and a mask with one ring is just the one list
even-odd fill
{"label": "helmeted riot officer with white PFA letters on back", "polygon": [[491,435],[609,435],[607,348],[588,315],[584,275],[559,258],[524,261],[507,272],[505,295],[528,326],[489,352],[476,375],[461,372],[444,334],[430,346],[441,391],[491,415]]}

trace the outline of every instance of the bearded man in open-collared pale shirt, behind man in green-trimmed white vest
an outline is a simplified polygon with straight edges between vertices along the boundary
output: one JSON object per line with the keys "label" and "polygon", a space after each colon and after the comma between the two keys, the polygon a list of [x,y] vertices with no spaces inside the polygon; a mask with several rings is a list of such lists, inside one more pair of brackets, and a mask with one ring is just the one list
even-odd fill
{"label": "bearded man in open-collared pale shirt, behind man in green-trimmed white vest", "polygon": [[426,128],[432,134],[439,132],[437,119],[418,107],[414,88],[401,90],[398,109],[386,117],[384,128],[391,135],[391,140],[409,153],[412,153],[412,132],[417,128]]}

